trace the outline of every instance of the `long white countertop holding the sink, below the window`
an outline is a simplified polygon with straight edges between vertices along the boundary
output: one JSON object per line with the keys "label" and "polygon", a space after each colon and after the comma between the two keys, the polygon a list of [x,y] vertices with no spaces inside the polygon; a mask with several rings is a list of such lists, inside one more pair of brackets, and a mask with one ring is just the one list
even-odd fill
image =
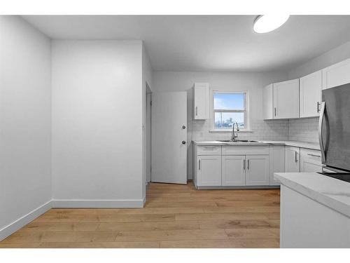
{"label": "long white countertop holding the sink, below the window", "polygon": [[193,141],[196,145],[287,145],[307,149],[320,150],[318,143],[297,142],[297,141],[273,141],[273,140],[258,140],[258,142],[220,142],[220,141]]}

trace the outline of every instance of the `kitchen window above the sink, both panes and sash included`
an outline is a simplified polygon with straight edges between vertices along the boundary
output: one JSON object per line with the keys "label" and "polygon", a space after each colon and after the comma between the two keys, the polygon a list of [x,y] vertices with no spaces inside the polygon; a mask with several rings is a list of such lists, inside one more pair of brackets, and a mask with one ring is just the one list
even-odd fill
{"label": "kitchen window above the sink, both panes and sash included", "polygon": [[248,93],[213,91],[212,98],[212,131],[231,131],[236,122],[240,130],[248,130]]}

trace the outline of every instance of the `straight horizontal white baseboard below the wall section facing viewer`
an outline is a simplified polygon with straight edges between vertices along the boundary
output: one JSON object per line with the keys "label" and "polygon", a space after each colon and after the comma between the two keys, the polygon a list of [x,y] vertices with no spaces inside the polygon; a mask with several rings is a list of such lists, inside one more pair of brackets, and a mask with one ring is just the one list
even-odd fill
{"label": "straight horizontal white baseboard below the wall section facing viewer", "polygon": [[144,199],[52,199],[52,208],[143,208]]}

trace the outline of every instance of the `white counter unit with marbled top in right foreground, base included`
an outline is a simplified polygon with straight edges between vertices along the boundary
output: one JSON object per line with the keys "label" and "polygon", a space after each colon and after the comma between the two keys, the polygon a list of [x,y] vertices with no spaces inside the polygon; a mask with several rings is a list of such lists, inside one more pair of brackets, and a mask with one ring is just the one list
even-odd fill
{"label": "white counter unit with marbled top in right foreground, base included", "polygon": [[281,248],[350,248],[350,183],[318,173],[281,182]]}

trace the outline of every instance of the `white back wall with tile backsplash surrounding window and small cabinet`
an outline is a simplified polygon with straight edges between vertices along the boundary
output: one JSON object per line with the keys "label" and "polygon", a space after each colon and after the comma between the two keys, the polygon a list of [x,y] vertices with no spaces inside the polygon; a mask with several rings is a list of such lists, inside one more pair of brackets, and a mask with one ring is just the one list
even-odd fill
{"label": "white back wall with tile backsplash surrounding window and small cabinet", "polygon": [[[216,90],[248,90],[253,132],[239,133],[239,137],[286,140],[288,121],[262,121],[262,87],[287,77],[285,72],[153,72],[153,92],[188,91],[188,142],[230,138],[230,133],[209,133],[209,121],[192,121],[195,82],[207,82]],[[192,145],[188,143],[188,178],[192,177],[192,161]]]}

